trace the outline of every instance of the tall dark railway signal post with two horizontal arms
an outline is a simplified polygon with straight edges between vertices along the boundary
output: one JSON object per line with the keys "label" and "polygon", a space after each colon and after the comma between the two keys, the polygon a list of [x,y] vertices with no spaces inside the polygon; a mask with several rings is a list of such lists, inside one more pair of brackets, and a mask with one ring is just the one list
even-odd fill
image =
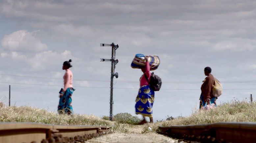
{"label": "tall dark railway signal post with two horizontal arms", "polygon": [[111,81],[110,81],[110,112],[109,112],[109,120],[113,121],[113,79],[118,78],[118,73],[115,73],[115,65],[118,63],[118,60],[115,60],[115,50],[119,47],[118,45],[112,44],[100,44],[100,46],[112,46],[112,54],[111,59],[100,59],[101,62],[103,61],[111,61]]}

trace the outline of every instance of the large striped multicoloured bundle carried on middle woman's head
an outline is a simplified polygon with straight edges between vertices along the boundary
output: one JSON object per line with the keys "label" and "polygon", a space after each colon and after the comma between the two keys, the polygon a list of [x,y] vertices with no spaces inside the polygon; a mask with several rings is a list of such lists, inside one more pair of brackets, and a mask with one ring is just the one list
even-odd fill
{"label": "large striped multicoloured bundle carried on middle woman's head", "polygon": [[158,56],[144,56],[143,54],[136,54],[131,67],[134,69],[141,69],[141,68],[145,68],[146,65],[146,59],[149,62],[149,66],[150,66],[150,71],[154,71],[158,68],[159,64],[160,64],[160,59]]}

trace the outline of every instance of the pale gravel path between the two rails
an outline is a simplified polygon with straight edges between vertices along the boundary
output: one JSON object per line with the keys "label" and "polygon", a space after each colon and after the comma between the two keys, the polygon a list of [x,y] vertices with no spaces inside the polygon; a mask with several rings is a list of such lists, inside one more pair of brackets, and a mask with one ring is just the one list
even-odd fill
{"label": "pale gravel path between the two rails", "polygon": [[129,133],[112,133],[88,140],[86,143],[177,143],[177,140],[154,132],[142,134],[141,126],[133,126]]}

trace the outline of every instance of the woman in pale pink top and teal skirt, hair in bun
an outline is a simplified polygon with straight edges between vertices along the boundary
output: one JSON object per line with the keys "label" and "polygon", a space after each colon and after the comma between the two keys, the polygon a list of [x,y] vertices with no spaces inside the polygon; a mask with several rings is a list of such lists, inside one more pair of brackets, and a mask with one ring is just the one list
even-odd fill
{"label": "woman in pale pink top and teal skirt, hair in bun", "polygon": [[60,101],[59,101],[59,106],[58,106],[58,112],[61,113],[67,113],[69,115],[73,114],[73,107],[72,107],[72,94],[75,91],[73,89],[72,83],[73,83],[73,73],[69,70],[69,68],[72,67],[70,65],[70,62],[72,60],[70,59],[69,61],[65,61],[63,63],[62,70],[65,70],[65,74],[63,76],[64,79],[64,89],[61,89],[60,93]]}

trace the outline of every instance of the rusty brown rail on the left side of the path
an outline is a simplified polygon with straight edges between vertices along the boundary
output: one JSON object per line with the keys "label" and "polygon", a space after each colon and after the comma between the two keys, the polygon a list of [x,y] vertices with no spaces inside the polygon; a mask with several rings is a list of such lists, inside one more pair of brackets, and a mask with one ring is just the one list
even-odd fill
{"label": "rusty brown rail on the left side of the path", "polygon": [[0,143],[84,142],[111,133],[108,126],[64,126],[38,123],[0,123]]}

